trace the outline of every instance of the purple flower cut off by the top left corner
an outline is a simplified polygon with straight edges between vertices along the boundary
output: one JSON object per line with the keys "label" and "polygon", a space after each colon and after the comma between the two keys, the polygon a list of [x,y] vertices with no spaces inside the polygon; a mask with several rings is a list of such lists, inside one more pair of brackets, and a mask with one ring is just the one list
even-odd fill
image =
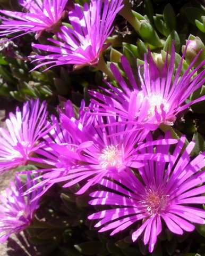
{"label": "purple flower cut off by the top left corner", "polygon": [[35,33],[36,39],[43,31],[55,33],[66,17],[67,0],[19,0],[25,12],[0,10],[0,13],[13,19],[1,16],[0,36],[21,33],[19,36]]}

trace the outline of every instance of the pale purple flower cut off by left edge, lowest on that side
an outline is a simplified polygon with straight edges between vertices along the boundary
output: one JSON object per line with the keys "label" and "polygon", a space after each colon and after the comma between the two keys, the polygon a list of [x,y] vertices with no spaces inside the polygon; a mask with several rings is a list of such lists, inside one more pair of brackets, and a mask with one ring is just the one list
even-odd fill
{"label": "pale purple flower cut off by left edge, lowest on that side", "polygon": [[[29,175],[27,180],[27,189],[36,183]],[[6,188],[0,194],[0,243],[5,242],[12,233],[29,227],[39,207],[39,199],[35,198],[41,189],[23,196],[23,183],[18,175],[15,176],[15,182],[11,181],[10,185],[10,188]]]}

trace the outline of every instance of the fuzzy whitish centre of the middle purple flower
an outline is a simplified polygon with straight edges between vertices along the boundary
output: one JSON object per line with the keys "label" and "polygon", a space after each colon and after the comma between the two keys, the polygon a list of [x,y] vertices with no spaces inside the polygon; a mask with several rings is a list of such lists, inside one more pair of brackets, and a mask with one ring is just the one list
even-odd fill
{"label": "fuzzy whitish centre of the middle purple flower", "polygon": [[100,165],[103,168],[121,167],[122,166],[122,151],[117,146],[110,145],[103,149],[99,156]]}

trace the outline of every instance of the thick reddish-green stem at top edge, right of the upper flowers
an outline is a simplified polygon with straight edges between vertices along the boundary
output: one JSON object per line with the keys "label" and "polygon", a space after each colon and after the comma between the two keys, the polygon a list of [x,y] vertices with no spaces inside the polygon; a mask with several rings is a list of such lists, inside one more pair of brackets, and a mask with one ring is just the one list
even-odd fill
{"label": "thick reddish-green stem at top edge, right of the upper flowers", "polygon": [[121,11],[119,11],[119,14],[122,15],[122,17],[127,20],[133,28],[139,32],[140,31],[140,21],[134,17],[134,14],[132,13],[131,7],[130,7],[130,1],[124,0],[123,1],[124,7]]}

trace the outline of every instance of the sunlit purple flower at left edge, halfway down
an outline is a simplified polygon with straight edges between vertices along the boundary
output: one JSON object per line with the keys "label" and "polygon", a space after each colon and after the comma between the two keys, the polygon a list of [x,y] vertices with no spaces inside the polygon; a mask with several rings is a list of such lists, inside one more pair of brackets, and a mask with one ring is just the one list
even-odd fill
{"label": "sunlit purple flower at left edge, halfway down", "polygon": [[42,147],[39,139],[50,129],[46,117],[45,102],[39,106],[39,100],[27,101],[22,112],[17,107],[15,115],[10,113],[7,130],[0,128],[0,174],[27,165],[31,153]]}

